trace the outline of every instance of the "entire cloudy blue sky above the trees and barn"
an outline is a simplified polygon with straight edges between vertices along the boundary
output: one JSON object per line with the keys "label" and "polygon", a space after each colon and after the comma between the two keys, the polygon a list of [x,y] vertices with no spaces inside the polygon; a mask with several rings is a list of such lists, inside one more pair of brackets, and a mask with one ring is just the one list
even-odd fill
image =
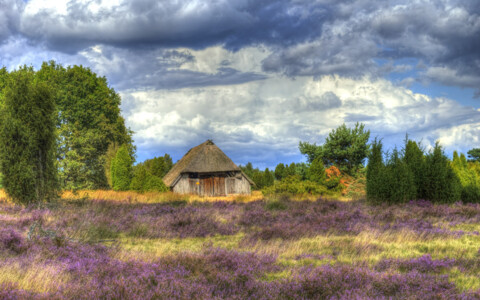
{"label": "entire cloudy blue sky above the trees and barn", "polygon": [[49,60],[107,78],[138,162],[212,139],[271,168],[356,122],[480,147],[478,0],[0,0],[0,65]]}

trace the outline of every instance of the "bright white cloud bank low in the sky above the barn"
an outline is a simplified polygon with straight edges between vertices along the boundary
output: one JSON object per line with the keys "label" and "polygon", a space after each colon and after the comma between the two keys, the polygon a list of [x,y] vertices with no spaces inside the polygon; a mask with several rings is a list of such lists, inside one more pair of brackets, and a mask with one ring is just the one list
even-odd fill
{"label": "bright white cloud bank low in the sky above the barn", "polygon": [[236,162],[272,166],[301,159],[299,141],[322,143],[332,128],[357,121],[388,147],[401,146],[408,133],[427,147],[440,140],[449,151],[466,151],[480,135],[480,111],[383,79],[277,78],[248,87],[134,92],[124,99],[126,105],[135,103],[126,118],[144,151],[141,157],[176,149],[178,159],[213,138]]}

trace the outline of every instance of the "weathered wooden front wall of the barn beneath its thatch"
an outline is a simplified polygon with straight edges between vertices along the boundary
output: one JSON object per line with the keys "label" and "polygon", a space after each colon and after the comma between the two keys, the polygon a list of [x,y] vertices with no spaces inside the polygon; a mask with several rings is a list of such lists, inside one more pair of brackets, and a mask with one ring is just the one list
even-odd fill
{"label": "weathered wooden front wall of the barn beneath its thatch", "polygon": [[196,194],[201,196],[227,196],[231,194],[250,194],[251,186],[245,176],[236,174],[235,177],[211,177],[194,179],[188,174],[182,177],[173,187],[173,192],[179,194]]}

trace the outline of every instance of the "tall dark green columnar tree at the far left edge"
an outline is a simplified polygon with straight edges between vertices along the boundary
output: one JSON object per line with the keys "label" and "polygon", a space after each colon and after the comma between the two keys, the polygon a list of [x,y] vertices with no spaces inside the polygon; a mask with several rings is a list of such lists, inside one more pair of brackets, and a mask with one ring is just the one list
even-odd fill
{"label": "tall dark green columnar tree at the far left edge", "polygon": [[55,102],[32,68],[11,72],[0,110],[0,168],[8,195],[21,204],[56,196]]}

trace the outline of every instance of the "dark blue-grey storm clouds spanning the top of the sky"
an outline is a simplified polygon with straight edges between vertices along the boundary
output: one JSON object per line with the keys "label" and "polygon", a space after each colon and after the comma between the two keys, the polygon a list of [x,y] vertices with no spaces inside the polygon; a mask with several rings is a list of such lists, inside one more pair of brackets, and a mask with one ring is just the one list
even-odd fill
{"label": "dark blue-grey storm clouds spanning the top of the sky", "polygon": [[[263,70],[289,77],[383,76],[392,69],[379,59],[414,58],[426,65],[425,70],[414,70],[419,81],[480,93],[478,0],[128,0],[113,6],[72,0],[66,12],[24,6],[22,1],[0,0],[0,42],[22,36],[70,54],[96,45],[138,53],[214,45],[237,51],[263,45],[272,52],[263,60]],[[133,77],[158,88],[262,79],[223,67],[217,74],[162,69],[168,76],[158,80]]]}

